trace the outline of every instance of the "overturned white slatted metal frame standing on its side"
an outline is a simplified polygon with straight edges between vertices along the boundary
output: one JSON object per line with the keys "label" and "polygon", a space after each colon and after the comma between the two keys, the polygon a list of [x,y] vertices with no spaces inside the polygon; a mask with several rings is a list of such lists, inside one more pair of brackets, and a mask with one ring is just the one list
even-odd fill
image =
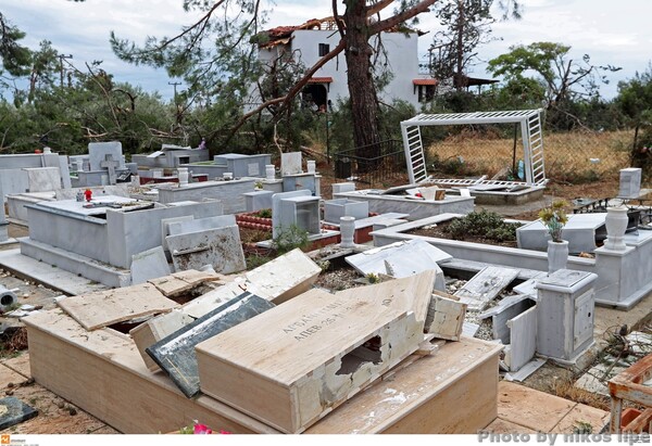
{"label": "overturned white slatted metal frame standing on its side", "polygon": [[[543,132],[541,109],[516,110],[511,112],[475,112],[419,114],[401,123],[403,146],[410,182],[415,184],[428,179],[426,158],[421,136],[424,126],[451,126],[468,124],[521,124],[523,137],[523,160],[525,164],[525,184],[546,184],[543,168]],[[464,180],[459,180],[464,181]],[[504,182],[504,181],[502,181]]]}

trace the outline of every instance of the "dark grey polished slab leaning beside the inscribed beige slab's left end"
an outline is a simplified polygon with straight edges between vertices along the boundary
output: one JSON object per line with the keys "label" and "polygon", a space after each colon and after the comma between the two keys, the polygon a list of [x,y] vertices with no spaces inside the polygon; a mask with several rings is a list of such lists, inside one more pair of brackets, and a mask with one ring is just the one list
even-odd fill
{"label": "dark grey polished slab leaning beside the inscribed beige slab's left end", "polygon": [[242,293],[146,348],[146,352],[170,375],[184,395],[191,398],[199,393],[195,346],[274,306],[266,298],[248,292]]}

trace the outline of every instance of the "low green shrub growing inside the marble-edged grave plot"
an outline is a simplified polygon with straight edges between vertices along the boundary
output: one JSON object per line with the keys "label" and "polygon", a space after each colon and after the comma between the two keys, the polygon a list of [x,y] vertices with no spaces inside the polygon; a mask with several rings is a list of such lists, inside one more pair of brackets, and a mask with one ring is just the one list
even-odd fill
{"label": "low green shrub growing inside the marble-edged grave plot", "polygon": [[519,224],[505,222],[500,214],[482,209],[453,219],[443,230],[455,240],[474,235],[504,242],[516,240],[516,228],[519,226]]}

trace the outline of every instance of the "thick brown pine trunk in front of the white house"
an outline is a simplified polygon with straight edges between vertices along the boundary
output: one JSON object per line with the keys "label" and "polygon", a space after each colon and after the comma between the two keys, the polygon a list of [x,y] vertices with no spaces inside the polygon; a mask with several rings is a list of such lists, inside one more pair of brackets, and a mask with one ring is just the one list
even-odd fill
{"label": "thick brown pine trunk in front of the white house", "polygon": [[[378,126],[378,100],[372,78],[373,50],[368,43],[369,29],[365,0],[349,0],[344,12],[347,27],[344,56],[347,58],[349,98],[351,99],[353,141],[356,155],[376,157],[380,155],[380,131]],[[372,166],[366,166],[367,169]],[[364,166],[359,165],[359,169]]]}

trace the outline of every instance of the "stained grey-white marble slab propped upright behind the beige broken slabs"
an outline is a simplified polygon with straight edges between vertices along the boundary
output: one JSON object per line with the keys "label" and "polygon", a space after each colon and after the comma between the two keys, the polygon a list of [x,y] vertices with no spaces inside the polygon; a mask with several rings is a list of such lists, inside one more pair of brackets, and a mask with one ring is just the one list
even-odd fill
{"label": "stained grey-white marble slab propped upright behind the beige broken slabs", "polygon": [[[175,225],[183,224],[170,225],[171,232]],[[165,240],[176,271],[200,269],[204,265],[211,265],[216,272],[224,275],[247,269],[240,231],[236,225],[167,235]]]}

